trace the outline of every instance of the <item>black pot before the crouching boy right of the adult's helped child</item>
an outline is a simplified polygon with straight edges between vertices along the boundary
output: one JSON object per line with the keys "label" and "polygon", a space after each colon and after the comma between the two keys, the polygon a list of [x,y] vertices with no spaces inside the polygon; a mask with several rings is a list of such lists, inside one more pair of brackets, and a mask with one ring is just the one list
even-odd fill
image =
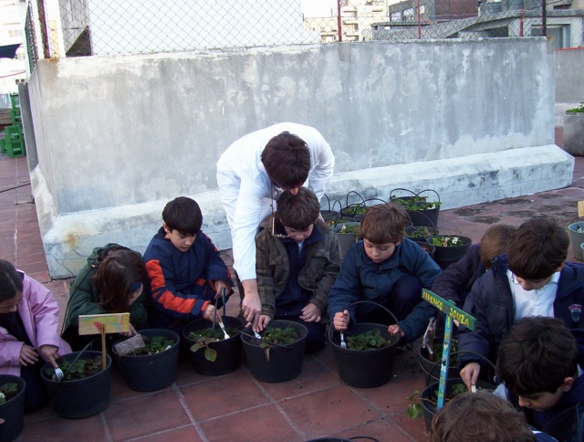
{"label": "black pot before the crouching boy right of the adult's helped child", "polygon": [[[328,342],[332,346],[339,378],[343,384],[369,388],[390,381],[399,339],[397,336],[391,336],[387,329],[387,325],[357,323],[350,332],[344,333],[348,348],[343,349],[340,346],[339,333],[333,334],[333,328],[329,327]],[[351,349],[350,342],[353,336],[372,331],[376,334],[379,332],[381,339],[387,343],[368,350],[357,350],[357,347]]]}

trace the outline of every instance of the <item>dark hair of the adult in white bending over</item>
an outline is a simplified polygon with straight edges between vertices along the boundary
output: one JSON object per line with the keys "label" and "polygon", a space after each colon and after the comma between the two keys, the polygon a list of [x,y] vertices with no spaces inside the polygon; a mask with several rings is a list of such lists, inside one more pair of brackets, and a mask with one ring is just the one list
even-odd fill
{"label": "dark hair of the adult in white bending over", "polygon": [[310,172],[308,145],[297,135],[282,132],[267,142],[262,152],[267,176],[281,189],[304,184]]}

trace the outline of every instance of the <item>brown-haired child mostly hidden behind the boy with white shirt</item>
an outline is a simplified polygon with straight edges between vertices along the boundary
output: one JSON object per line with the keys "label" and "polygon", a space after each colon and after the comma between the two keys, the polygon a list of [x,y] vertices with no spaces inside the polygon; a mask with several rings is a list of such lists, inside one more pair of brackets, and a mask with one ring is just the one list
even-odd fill
{"label": "brown-haired child mostly hidden behind the boy with white shirt", "polygon": [[508,224],[495,224],[487,228],[480,244],[468,247],[463,258],[436,278],[432,291],[462,308],[474,281],[491,268],[493,259],[506,252],[516,229],[516,226]]}

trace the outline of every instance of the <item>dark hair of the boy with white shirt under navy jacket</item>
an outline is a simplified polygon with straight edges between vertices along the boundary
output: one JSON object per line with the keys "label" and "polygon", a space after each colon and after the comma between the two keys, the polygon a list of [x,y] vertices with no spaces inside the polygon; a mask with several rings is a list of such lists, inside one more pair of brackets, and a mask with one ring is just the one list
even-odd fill
{"label": "dark hair of the boy with white shirt under navy jacket", "polygon": [[509,269],[521,279],[546,279],[568,258],[569,237],[551,216],[524,222],[507,247]]}

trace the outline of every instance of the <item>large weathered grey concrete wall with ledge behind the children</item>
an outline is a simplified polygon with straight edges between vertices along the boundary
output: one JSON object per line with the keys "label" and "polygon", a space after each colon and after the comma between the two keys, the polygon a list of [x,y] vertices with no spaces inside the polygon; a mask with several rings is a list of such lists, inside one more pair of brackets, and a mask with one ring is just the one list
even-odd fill
{"label": "large weathered grey concrete wall with ledge behind the children", "polygon": [[230,247],[216,160],[278,121],[327,138],[332,200],[430,187],[448,208],[562,187],[573,167],[553,144],[545,38],[40,60],[29,91],[53,278],[109,241],[142,252],[177,195],[193,196],[204,231]]}

